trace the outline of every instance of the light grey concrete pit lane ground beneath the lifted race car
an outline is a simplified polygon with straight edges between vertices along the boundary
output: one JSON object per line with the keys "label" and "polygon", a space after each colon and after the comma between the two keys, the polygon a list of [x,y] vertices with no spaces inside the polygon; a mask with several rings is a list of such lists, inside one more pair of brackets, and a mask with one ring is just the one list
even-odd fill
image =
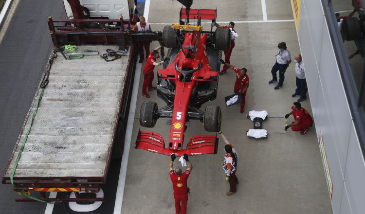
{"label": "light grey concrete pit lane ground beneath the lifted race car", "polygon": [[[284,115],[291,111],[295,90],[294,62],[285,75],[284,85],[274,90],[268,85],[274,65],[278,41],[285,41],[288,50],[300,54],[295,25],[292,20],[290,0],[220,0],[194,1],[192,8],[216,9],[220,25],[236,22],[238,33],[231,64],[248,69],[250,87],[246,96],[245,112],[239,106],[225,107],[224,97],[233,94],[235,73],[229,70],[219,77],[217,99],[206,105],[222,109],[222,131],[238,153],[237,193],[226,196],[229,184],[222,170],[224,142],[220,139],[217,155],[191,156],[194,169],[188,186],[191,196],[187,204],[189,214],[330,214],[332,213],[325,174],[320,158],[316,132],[311,128],[306,135],[292,130],[284,131]],[[181,4],[171,0],[151,0],[148,21],[154,31],[162,31],[168,23],[178,23]],[[209,29],[209,24],[204,24]],[[158,46],[151,44],[151,50]],[[145,64],[146,61],[143,62]],[[155,68],[155,73],[158,68]],[[142,71],[141,71],[142,72]],[[311,71],[306,71],[311,72]],[[159,119],[154,128],[139,125],[139,108],[143,101],[157,102],[164,107],[155,91],[151,98],[143,97],[140,89],[134,118],[131,150],[129,152],[127,177],[124,188],[122,213],[171,214],[175,212],[171,180],[168,176],[170,157],[144,150],[132,149],[139,128],[169,135],[167,119]],[[155,78],[154,83],[157,80]],[[302,102],[310,114],[310,99]],[[267,110],[269,118],[263,128],[269,134],[266,139],[252,139],[246,131],[253,122],[246,119],[250,110]],[[292,122],[292,116],[288,123]],[[201,134],[204,130],[199,121],[191,121],[185,139]],[[186,141],[183,147],[185,148]],[[175,165],[180,164],[175,160]],[[125,166],[122,166],[125,167]]]}

